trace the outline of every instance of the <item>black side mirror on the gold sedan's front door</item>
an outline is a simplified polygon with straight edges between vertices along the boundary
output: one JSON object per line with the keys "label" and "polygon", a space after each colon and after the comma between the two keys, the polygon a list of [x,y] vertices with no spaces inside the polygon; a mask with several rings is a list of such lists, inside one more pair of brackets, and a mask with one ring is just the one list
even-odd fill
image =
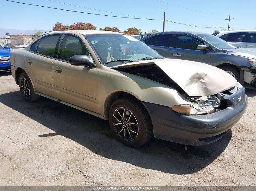
{"label": "black side mirror on the gold sedan's front door", "polygon": [[93,62],[92,58],[90,56],[86,56],[86,55],[71,56],[68,59],[68,62],[74,66],[87,66],[87,67],[91,67],[91,68],[96,68],[96,65]]}

